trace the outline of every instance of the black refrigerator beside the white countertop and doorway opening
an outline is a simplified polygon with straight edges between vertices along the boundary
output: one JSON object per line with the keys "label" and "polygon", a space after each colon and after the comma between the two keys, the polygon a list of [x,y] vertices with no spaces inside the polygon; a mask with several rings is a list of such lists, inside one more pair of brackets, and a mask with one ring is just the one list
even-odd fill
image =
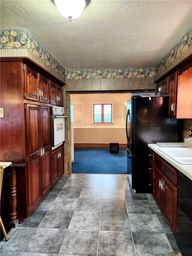
{"label": "black refrigerator beside the white countertop and doorway opening", "polygon": [[168,118],[169,97],[127,101],[127,174],[134,193],[149,193],[148,143],[179,142],[178,119]]}

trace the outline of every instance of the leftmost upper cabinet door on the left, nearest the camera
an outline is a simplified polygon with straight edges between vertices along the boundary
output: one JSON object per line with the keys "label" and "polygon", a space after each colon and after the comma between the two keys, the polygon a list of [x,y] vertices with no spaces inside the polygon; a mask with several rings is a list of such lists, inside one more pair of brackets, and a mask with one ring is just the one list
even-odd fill
{"label": "leftmost upper cabinet door on the left, nearest the camera", "polygon": [[39,74],[38,72],[25,65],[25,93],[26,99],[39,101]]}

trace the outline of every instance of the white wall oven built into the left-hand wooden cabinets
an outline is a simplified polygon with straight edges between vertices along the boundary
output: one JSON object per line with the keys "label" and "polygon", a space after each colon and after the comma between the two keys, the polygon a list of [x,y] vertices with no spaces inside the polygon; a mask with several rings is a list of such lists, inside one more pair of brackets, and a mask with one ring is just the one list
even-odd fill
{"label": "white wall oven built into the left-hand wooden cabinets", "polygon": [[65,141],[65,108],[51,107],[51,145],[55,147]]}

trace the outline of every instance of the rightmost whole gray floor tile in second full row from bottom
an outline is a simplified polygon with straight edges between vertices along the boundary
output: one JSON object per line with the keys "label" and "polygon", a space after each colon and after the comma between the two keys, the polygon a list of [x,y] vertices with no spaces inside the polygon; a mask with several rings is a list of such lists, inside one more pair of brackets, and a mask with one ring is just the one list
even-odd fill
{"label": "rightmost whole gray floor tile in second full row from bottom", "polygon": [[133,232],[163,232],[155,214],[130,213],[129,220]]}

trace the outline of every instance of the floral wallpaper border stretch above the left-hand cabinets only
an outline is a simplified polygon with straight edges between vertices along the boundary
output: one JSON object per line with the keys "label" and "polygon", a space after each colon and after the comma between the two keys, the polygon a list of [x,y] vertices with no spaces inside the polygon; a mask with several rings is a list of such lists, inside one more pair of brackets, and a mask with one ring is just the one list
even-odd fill
{"label": "floral wallpaper border stretch above the left-hand cabinets only", "polygon": [[0,30],[0,49],[26,48],[56,73],[65,77],[65,69],[48,53],[27,29]]}

